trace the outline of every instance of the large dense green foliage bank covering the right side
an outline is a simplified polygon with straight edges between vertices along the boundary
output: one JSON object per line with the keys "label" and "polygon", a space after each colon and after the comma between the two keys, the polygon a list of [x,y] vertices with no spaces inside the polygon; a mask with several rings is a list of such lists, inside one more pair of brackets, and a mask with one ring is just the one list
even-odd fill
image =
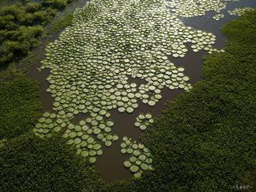
{"label": "large dense green foliage bank covering the right side", "polygon": [[[142,137],[155,170],[141,180],[112,183],[109,192],[226,192],[255,185],[256,12],[230,22],[223,33],[227,52],[206,57],[204,80],[170,102]],[[243,183],[246,175],[253,176]]]}

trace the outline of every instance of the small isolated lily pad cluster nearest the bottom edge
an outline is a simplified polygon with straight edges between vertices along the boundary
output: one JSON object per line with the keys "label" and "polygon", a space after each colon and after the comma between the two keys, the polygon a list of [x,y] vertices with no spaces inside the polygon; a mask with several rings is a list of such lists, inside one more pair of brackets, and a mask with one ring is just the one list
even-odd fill
{"label": "small isolated lily pad cluster nearest the bottom edge", "polygon": [[123,137],[121,143],[121,153],[130,155],[123,165],[133,173],[133,176],[139,178],[144,170],[153,170],[153,159],[149,150],[144,144],[137,143],[130,138]]}

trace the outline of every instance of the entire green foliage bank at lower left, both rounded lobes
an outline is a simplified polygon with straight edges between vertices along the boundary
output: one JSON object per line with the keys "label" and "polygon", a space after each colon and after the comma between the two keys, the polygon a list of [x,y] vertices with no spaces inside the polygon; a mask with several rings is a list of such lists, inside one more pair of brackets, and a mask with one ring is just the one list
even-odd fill
{"label": "entire green foliage bank at lower left, both rounded lobes", "polygon": [[0,83],[0,191],[98,191],[102,181],[66,141],[33,134],[39,89],[24,74]]}

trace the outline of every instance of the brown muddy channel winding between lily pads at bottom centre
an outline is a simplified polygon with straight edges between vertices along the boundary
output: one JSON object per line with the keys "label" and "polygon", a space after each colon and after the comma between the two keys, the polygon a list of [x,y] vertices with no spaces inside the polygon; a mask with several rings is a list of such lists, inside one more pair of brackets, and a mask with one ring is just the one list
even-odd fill
{"label": "brown muddy channel winding between lily pads at bottom centre", "polygon": [[139,108],[134,110],[132,114],[120,114],[117,110],[111,111],[112,119],[115,122],[112,133],[119,135],[119,140],[114,142],[110,148],[103,149],[104,153],[102,156],[97,157],[97,161],[95,163],[100,176],[106,180],[106,182],[129,179],[132,177],[130,171],[123,166],[123,162],[128,159],[129,156],[120,153],[120,144],[123,136],[131,137],[136,141],[140,141],[139,137],[142,131],[133,125],[137,115],[140,113],[150,112],[155,117],[161,113],[166,101],[175,99],[181,93],[182,90],[180,89],[170,91],[168,88],[164,88],[162,91],[163,98],[154,107],[144,105],[139,101]]}

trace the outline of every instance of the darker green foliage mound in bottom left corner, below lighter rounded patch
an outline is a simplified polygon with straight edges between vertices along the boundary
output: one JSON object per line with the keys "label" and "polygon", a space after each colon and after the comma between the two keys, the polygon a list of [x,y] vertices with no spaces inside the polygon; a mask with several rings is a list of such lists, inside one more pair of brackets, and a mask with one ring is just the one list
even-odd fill
{"label": "darker green foliage mound in bottom left corner, below lighter rounded patch", "polygon": [[[102,181],[64,139],[40,139],[32,132],[0,149],[0,191],[99,191]],[[85,190],[83,190],[85,189]]]}

